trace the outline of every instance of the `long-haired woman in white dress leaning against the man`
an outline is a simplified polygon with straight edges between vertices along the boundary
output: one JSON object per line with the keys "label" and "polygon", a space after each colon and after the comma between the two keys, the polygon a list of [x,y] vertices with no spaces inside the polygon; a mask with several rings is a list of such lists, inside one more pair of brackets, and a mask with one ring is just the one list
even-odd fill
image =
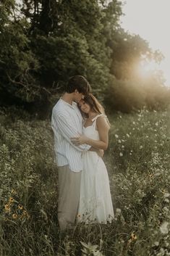
{"label": "long-haired woman in white dress leaning against the man", "polygon": [[[103,107],[88,94],[79,103],[80,111],[85,117],[83,134],[72,138],[76,145],[89,144],[95,149],[106,150],[109,144],[109,121]],[[111,202],[109,177],[106,166],[95,151],[82,153],[83,170],[80,186],[80,205],[78,222],[111,223],[114,210]]]}

